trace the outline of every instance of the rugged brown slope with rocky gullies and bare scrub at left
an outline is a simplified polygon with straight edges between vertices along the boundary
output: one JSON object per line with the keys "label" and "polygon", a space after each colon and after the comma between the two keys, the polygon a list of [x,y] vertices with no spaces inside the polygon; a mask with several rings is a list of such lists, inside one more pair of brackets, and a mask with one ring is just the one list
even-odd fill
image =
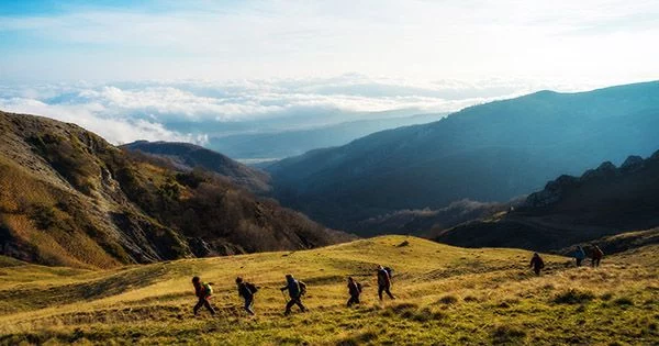
{"label": "rugged brown slope with rocky gullies and bare scrub at left", "polygon": [[0,255],[74,267],[300,249],[346,236],[217,175],[0,112]]}

